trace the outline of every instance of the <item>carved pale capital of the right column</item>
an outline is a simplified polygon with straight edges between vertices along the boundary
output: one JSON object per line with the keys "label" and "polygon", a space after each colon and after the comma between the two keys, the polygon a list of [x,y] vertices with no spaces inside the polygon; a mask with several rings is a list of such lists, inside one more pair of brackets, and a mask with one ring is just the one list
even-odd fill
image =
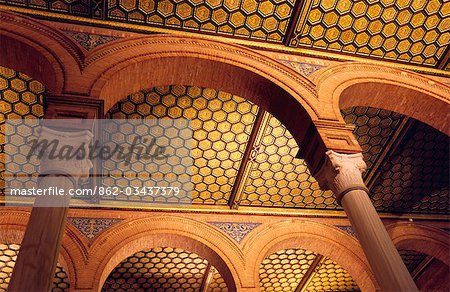
{"label": "carved pale capital of the right column", "polygon": [[363,190],[369,193],[362,178],[366,169],[362,153],[341,154],[329,150],[315,177],[323,189],[333,191],[340,204],[342,197],[350,191]]}

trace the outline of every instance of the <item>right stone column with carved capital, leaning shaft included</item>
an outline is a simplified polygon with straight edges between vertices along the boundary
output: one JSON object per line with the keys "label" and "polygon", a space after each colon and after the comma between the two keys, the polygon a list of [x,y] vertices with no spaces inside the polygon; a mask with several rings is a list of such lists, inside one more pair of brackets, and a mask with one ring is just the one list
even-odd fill
{"label": "right stone column with carved capital, leaning shaft included", "polygon": [[326,152],[316,175],[321,187],[334,192],[344,208],[383,291],[418,291],[397,249],[369,199],[361,153]]}

